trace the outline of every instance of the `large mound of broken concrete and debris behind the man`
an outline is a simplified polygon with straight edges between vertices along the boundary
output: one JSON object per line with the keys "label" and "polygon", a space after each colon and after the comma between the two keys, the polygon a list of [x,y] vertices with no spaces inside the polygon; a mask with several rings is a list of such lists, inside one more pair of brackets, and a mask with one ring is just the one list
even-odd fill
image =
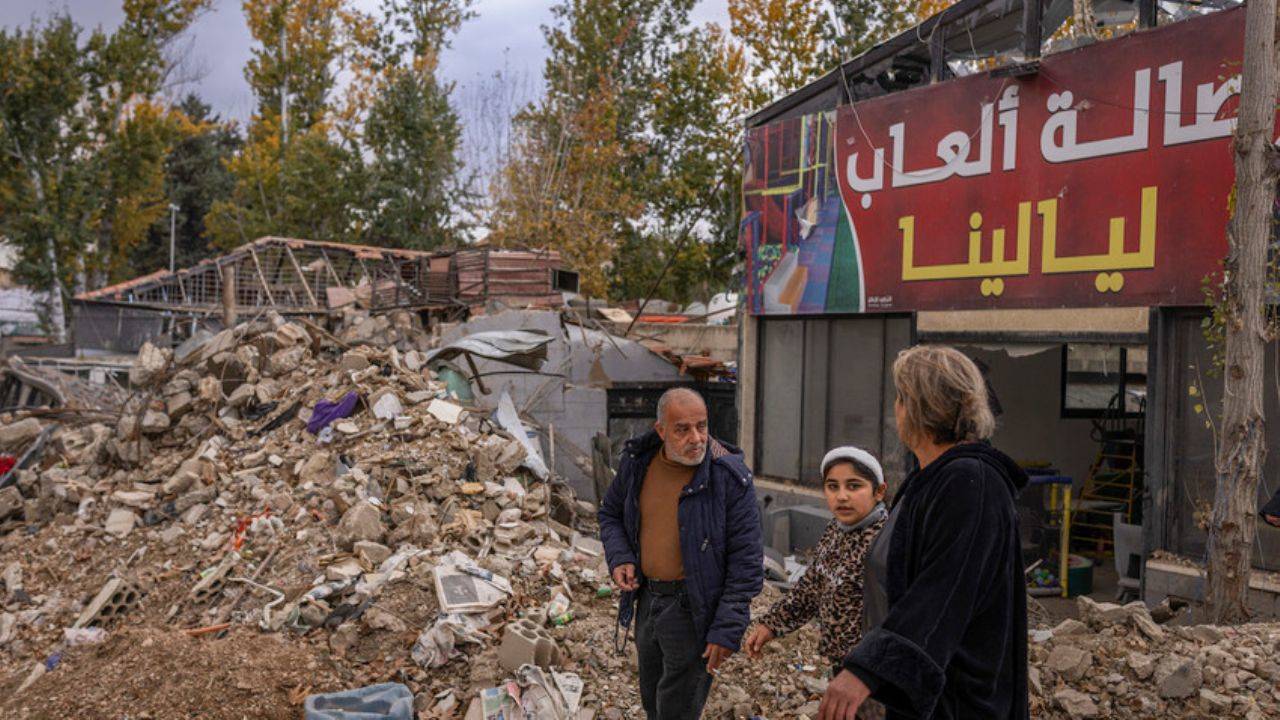
{"label": "large mound of broken concrete and debris behind the man", "polygon": [[[419,717],[634,716],[595,509],[429,345],[269,315],[142,348],[115,407],[0,416],[0,455],[47,437],[0,488],[0,712],[298,716],[399,683]],[[815,708],[797,638],[735,657],[708,716]]]}

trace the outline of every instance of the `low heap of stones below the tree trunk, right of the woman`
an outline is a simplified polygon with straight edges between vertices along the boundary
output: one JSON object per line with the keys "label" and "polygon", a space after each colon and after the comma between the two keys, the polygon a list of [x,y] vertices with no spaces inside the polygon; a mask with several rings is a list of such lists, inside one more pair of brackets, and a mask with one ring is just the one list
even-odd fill
{"label": "low heap of stones below the tree trunk, right of the woman", "polygon": [[1280,716],[1280,625],[1178,625],[1166,606],[1153,618],[1142,602],[1078,602],[1079,620],[1032,632],[1032,716]]}

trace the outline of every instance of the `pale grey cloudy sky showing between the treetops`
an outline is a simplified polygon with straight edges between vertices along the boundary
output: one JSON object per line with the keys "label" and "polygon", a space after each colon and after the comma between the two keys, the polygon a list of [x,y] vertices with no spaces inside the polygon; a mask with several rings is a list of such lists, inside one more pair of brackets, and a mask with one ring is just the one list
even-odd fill
{"label": "pale grey cloudy sky showing between the treetops", "polygon": [[[378,6],[378,0],[357,0]],[[498,70],[526,72],[536,83],[545,58],[540,27],[550,22],[553,0],[476,0],[477,17],[463,26],[453,47],[442,59],[442,72],[458,83],[458,95]],[[726,0],[700,0],[694,20],[727,24]],[[119,23],[115,0],[0,0],[0,26],[29,23],[58,10],[69,10],[86,28]],[[214,0],[212,10],[192,27],[192,60],[201,70],[197,91],[223,117],[244,120],[253,110],[253,96],[243,68],[252,38],[244,27],[241,0]],[[535,86],[536,87],[536,86]],[[532,92],[534,90],[530,90]]]}

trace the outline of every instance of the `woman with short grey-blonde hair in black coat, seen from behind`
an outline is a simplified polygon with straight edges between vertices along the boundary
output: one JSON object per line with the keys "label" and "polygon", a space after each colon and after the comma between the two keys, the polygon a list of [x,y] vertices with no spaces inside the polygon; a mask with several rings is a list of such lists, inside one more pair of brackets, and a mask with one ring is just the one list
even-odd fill
{"label": "woman with short grey-blonde hair in black coat, seen from behind", "polygon": [[1025,720],[1027,591],[1014,500],[1027,474],[991,446],[982,373],[943,346],[893,363],[897,433],[919,460],[865,564],[861,642],[823,697],[852,720]]}

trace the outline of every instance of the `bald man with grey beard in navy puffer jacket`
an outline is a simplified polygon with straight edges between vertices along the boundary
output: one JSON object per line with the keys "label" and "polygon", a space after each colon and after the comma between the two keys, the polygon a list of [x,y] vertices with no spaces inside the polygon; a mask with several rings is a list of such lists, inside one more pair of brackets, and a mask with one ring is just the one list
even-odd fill
{"label": "bald man with grey beard in navy puffer jacket", "polygon": [[654,429],[622,451],[599,519],[618,624],[636,623],[645,714],[696,719],[764,584],[751,473],[742,451],[707,434],[701,396],[663,393]]}

